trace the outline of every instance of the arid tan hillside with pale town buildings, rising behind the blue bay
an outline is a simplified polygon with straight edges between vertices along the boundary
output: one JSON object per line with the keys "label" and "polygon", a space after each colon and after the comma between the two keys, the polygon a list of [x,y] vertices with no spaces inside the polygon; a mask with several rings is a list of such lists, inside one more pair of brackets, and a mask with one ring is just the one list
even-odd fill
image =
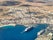
{"label": "arid tan hillside with pale town buildings, rising behind the blue bay", "polygon": [[47,23],[47,18],[51,17],[51,13],[53,13],[53,2],[51,1],[1,0],[0,25],[17,23],[29,25],[40,23],[40,20],[42,20],[41,23]]}

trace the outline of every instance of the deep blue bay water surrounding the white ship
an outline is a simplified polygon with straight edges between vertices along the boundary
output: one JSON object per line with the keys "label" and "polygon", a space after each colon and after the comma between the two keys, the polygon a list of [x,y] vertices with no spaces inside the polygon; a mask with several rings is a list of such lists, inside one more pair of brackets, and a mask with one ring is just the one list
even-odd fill
{"label": "deep blue bay water surrounding the white ship", "polygon": [[38,24],[37,27],[25,33],[21,33],[26,28],[24,25],[5,26],[0,28],[0,40],[34,40],[37,38],[37,32],[47,26],[48,24]]}

